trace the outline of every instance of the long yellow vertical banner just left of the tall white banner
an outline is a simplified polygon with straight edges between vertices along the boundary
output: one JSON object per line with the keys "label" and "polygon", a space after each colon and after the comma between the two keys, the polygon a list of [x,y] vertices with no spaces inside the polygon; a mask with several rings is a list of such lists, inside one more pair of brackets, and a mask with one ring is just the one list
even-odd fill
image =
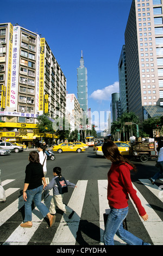
{"label": "long yellow vertical banner just left of the tall white banner", "polygon": [[9,27],[9,60],[8,60],[8,83],[7,83],[7,106],[10,106],[10,87],[11,87],[11,65],[12,65],[12,36],[13,26],[10,23]]}

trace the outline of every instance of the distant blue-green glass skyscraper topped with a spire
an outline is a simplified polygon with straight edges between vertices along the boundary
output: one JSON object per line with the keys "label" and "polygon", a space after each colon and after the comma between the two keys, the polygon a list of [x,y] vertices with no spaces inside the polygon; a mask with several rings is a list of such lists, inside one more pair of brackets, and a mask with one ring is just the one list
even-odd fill
{"label": "distant blue-green glass skyscraper topped with a spire", "polygon": [[80,66],[77,68],[78,101],[87,115],[87,68],[84,66],[83,52],[80,58]]}

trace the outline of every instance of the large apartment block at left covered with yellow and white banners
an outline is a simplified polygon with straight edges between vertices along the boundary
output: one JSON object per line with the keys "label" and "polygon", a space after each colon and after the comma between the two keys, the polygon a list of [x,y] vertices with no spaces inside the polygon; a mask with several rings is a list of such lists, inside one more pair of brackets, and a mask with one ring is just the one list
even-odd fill
{"label": "large apartment block at left covered with yellow and white banners", "polygon": [[5,121],[4,130],[34,128],[43,112],[49,112],[51,118],[64,116],[66,77],[45,38],[2,23],[0,43],[0,119]]}

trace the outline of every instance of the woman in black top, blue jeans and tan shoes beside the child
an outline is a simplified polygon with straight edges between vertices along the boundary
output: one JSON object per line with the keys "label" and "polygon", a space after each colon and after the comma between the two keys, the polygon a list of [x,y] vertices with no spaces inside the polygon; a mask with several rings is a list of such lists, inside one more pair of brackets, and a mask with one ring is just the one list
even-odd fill
{"label": "woman in black top, blue jeans and tan shoes beside the child", "polygon": [[25,201],[25,218],[21,224],[22,228],[32,227],[32,201],[45,217],[47,215],[50,227],[55,222],[55,216],[49,213],[47,207],[41,203],[41,195],[43,190],[42,180],[44,187],[47,186],[45,176],[43,174],[42,164],[39,162],[39,153],[32,151],[29,154],[30,163],[26,166],[26,178],[24,181],[23,199]]}

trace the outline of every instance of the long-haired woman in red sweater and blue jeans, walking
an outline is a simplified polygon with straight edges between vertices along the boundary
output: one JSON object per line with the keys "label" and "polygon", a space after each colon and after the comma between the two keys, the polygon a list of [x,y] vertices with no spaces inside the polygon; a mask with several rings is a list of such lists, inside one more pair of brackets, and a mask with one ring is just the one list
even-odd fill
{"label": "long-haired woman in red sweater and blue jeans, walking", "polygon": [[133,199],[140,216],[144,221],[148,215],[136,195],[130,179],[130,170],[136,168],[120,154],[117,145],[112,141],[104,142],[102,151],[106,159],[112,162],[108,172],[108,202],[110,214],[104,231],[104,244],[114,245],[114,235],[120,237],[127,245],[150,245],[123,228],[123,220],[128,214],[129,195]]}

